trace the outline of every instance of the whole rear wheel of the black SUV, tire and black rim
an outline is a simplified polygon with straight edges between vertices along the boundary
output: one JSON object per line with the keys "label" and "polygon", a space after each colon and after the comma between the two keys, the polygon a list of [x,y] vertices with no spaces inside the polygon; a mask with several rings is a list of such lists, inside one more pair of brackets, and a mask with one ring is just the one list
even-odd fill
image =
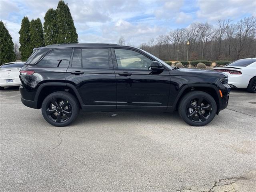
{"label": "whole rear wheel of the black SUV, tire and black rim", "polygon": [[78,100],[69,92],[58,91],[48,95],[42,103],[44,119],[57,127],[72,123],[79,113]]}

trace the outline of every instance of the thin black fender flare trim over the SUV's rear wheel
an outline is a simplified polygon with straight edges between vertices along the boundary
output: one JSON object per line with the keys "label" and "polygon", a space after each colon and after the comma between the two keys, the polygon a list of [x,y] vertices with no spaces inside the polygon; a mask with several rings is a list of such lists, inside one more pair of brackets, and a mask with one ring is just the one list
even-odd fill
{"label": "thin black fender flare trim over the SUV's rear wheel", "polygon": [[83,100],[82,100],[78,90],[76,89],[76,87],[70,83],[62,83],[62,82],[48,82],[48,83],[41,84],[36,91],[36,95],[35,95],[35,99],[34,99],[34,101],[36,102],[36,105],[38,103],[38,97],[40,95],[40,92],[42,91],[42,89],[44,87],[47,87],[47,86],[64,86],[64,87],[71,88],[74,91],[74,93],[76,94],[76,98],[78,98],[78,102],[80,103],[81,106],[83,106],[83,104],[84,104]]}

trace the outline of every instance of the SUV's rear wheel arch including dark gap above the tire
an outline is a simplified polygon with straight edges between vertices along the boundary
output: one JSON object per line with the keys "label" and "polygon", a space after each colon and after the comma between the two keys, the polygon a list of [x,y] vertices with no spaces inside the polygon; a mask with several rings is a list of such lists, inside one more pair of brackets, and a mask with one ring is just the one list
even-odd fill
{"label": "SUV's rear wheel arch including dark gap above the tire", "polygon": [[42,102],[46,96],[57,91],[67,91],[71,93],[78,100],[80,107],[83,105],[82,98],[74,85],[62,82],[48,82],[41,84],[36,91],[34,100],[36,101],[37,108],[40,109],[42,107]]}

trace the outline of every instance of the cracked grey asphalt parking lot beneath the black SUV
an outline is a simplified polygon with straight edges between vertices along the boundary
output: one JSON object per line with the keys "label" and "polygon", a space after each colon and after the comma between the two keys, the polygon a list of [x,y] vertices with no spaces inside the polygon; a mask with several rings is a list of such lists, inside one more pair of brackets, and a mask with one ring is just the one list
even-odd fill
{"label": "cracked grey asphalt parking lot beneath the black SUV", "polygon": [[18,88],[1,90],[0,191],[255,192],[256,94],[232,90],[204,127],[177,113],[80,112],[57,128]]}

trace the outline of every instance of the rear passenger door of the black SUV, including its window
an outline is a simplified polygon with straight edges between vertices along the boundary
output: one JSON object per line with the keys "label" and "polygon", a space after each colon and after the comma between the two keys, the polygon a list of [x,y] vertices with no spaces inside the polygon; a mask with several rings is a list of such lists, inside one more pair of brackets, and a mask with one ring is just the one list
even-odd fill
{"label": "rear passenger door of the black SUV, including its window", "polygon": [[77,88],[83,108],[116,108],[116,77],[109,48],[74,48],[66,82]]}

